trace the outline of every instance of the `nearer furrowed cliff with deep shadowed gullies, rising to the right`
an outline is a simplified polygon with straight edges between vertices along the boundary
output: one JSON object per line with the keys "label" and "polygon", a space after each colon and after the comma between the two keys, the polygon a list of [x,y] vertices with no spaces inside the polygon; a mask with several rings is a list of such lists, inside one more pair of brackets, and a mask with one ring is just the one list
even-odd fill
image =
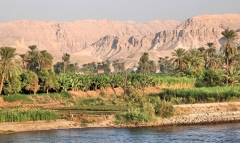
{"label": "nearer furrowed cliff with deep shadowed gullies, rising to the right", "polygon": [[[120,59],[126,61],[129,67],[137,65],[143,52],[148,52],[151,59],[157,62],[159,56],[171,56],[176,48],[206,47],[213,42],[220,49],[221,32],[225,29],[235,29],[240,32],[240,15],[201,15],[190,18],[176,28],[167,29],[155,34],[144,36],[105,36],[87,48],[92,56],[101,59]],[[83,50],[82,52],[85,53]],[[133,61],[135,63],[133,64]],[[130,64],[132,63],[132,64]]]}

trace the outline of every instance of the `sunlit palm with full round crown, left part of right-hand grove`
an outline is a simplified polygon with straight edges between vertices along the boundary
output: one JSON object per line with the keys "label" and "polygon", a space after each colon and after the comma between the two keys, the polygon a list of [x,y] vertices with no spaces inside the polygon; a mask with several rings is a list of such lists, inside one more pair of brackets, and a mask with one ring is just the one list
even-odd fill
{"label": "sunlit palm with full round crown, left part of right-hand grove", "polygon": [[187,51],[183,48],[178,48],[174,50],[174,52],[172,52],[173,58],[171,59],[171,61],[173,61],[174,66],[176,64],[179,66],[179,69],[181,72],[183,72],[183,67],[187,63],[187,59],[185,57],[186,54],[187,54]]}

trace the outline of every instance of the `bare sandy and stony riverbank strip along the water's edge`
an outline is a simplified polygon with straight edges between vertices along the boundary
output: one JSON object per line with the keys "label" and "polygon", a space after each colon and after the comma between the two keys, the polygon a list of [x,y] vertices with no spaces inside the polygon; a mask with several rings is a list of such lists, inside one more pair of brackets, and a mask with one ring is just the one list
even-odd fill
{"label": "bare sandy and stony riverbank strip along the water's edge", "polygon": [[[157,118],[153,123],[137,126],[194,125],[240,122],[240,102],[204,103],[175,105],[175,116]],[[23,131],[71,129],[86,127],[135,127],[136,125],[114,125],[114,116],[103,117],[94,123],[83,124],[78,120],[36,121],[21,123],[0,123],[0,133]]]}

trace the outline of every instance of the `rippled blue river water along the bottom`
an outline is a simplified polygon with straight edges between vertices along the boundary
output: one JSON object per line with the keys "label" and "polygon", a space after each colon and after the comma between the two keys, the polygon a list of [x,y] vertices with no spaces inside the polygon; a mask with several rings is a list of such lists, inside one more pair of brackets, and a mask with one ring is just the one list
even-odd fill
{"label": "rippled blue river water along the bottom", "polygon": [[147,128],[85,128],[0,135],[1,143],[240,142],[240,123]]}

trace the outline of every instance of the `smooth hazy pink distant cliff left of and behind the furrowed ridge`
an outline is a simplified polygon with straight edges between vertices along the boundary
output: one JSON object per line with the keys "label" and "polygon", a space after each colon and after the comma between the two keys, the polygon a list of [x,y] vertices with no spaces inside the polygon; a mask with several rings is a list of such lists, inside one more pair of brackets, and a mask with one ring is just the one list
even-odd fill
{"label": "smooth hazy pink distant cliff left of and behind the furrowed ridge", "polygon": [[106,35],[146,35],[174,28],[178,24],[179,22],[173,20],[156,20],[148,23],[106,19],[74,22],[21,20],[0,24],[0,37],[22,37],[26,45],[35,44],[39,49],[75,53]]}

